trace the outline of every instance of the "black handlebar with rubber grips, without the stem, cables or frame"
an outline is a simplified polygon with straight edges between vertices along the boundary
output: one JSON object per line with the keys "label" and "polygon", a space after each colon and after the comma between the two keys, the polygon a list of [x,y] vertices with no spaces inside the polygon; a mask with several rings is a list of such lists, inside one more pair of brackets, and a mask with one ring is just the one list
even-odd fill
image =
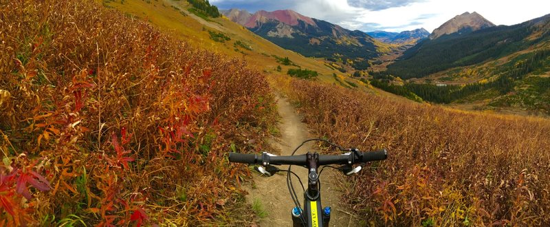
{"label": "black handlebar with rubber grips, without the stem, cables or frame", "polygon": [[[388,151],[386,151],[386,149],[369,152],[361,152],[357,149],[351,150],[353,152],[345,153],[342,155],[319,155],[319,165],[358,164],[364,162],[385,160],[388,157]],[[267,166],[270,164],[290,164],[297,166],[307,165],[306,155],[276,156],[265,152],[261,155],[230,152],[229,161],[246,164],[261,164],[263,166]]]}

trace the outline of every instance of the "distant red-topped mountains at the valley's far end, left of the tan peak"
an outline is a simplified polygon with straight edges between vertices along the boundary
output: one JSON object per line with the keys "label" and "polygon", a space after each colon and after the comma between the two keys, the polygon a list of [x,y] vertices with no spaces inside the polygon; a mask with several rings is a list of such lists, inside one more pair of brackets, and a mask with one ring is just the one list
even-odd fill
{"label": "distant red-topped mountains at the valley's far end, left of the tan peak", "polygon": [[292,10],[259,10],[252,14],[231,9],[221,10],[221,13],[230,21],[287,50],[325,58],[330,67],[340,72],[366,70],[373,62],[378,62],[381,55],[403,52],[430,35],[423,28],[400,33],[351,31]]}

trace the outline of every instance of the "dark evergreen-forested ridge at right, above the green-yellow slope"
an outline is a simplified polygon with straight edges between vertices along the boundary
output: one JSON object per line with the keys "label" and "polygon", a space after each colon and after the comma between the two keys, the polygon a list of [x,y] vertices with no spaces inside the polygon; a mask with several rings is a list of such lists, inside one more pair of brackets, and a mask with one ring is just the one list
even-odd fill
{"label": "dark evergreen-forested ridge at right, above the green-yellow slope", "polygon": [[388,66],[388,73],[401,78],[421,78],[452,67],[474,65],[502,58],[550,40],[546,28],[550,15],[517,25],[500,25],[475,32],[452,33],[425,39]]}

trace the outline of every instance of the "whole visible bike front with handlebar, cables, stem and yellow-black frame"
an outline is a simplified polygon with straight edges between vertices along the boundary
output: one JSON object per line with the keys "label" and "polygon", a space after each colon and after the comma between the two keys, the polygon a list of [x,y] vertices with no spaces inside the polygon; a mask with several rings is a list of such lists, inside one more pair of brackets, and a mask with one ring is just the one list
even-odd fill
{"label": "whole visible bike front with handlebar, cables, stem and yellow-black frame", "polygon": [[[311,141],[324,141],[329,143],[331,146],[338,148],[340,151],[347,151],[347,153],[341,155],[320,155],[317,152],[307,152],[307,154],[303,155],[294,155],[294,153],[296,153],[296,151],[300,147],[302,147],[305,142]],[[388,152],[386,151],[386,149],[362,152],[358,149],[344,149],[338,144],[334,144],[329,140],[314,138],[302,142],[302,144],[294,149],[292,155],[277,156],[267,152],[263,152],[261,154],[230,152],[229,162],[262,165],[264,167],[256,166],[255,169],[259,173],[266,176],[272,176],[274,175],[274,173],[281,171],[280,169],[272,165],[289,165],[288,170],[286,171],[287,186],[289,189],[289,193],[292,197],[292,201],[294,202],[294,205],[296,205],[292,209],[293,226],[327,227],[329,226],[331,208],[330,206],[327,206],[325,208],[322,208],[321,206],[321,182],[319,180],[319,175],[321,174],[322,169],[321,171],[318,171],[318,168],[322,165],[340,164],[342,166],[338,168],[335,168],[333,166],[331,167],[333,169],[338,169],[342,171],[345,175],[351,175],[354,173],[358,173],[362,169],[362,165],[355,166],[354,168],[352,166],[353,164],[362,164],[365,162],[385,160],[387,157]],[[300,177],[298,177],[296,173],[291,171],[292,165],[303,166],[308,169],[307,190],[303,187]],[[296,191],[294,190],[294,186],[292,185],[291,173],[298,177],[298,180],[300,180],[300,185],[302,185],[302,188],[304,189],[304,206],[301,206],[300,202],[298,201],[298,195],[296,195]]]}

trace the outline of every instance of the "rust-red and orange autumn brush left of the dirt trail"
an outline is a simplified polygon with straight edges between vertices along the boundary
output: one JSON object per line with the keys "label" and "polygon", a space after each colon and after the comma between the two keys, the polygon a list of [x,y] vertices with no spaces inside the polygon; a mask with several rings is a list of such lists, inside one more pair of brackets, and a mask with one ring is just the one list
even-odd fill
{"label": "rust-red and orange autumn brush left of the dirt trail", "polygon": [[225,153],[275,119],[259,72],[95,1],[0,1],[0,21],[0,226],[234,218]]}

